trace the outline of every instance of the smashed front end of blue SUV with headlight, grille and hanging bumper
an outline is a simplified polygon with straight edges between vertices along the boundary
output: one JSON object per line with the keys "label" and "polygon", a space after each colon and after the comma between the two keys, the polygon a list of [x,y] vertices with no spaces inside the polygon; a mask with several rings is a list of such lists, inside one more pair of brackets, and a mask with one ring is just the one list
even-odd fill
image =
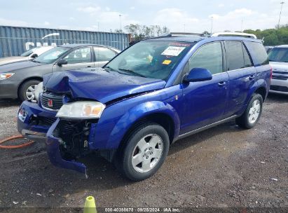
{"label": "smashed front end of blue SUV with headlight, grille and hanging bumper", "polygon": [[18,131],[34,141],[45,141],[53,165],[86,175],[85,165],[74,160],[90,153],[88,142],[94,137],[90,133],[94,132],[105,105],[74,99],[69,77],[72,76],[60,73],[44,78],[44,91],[37,104],[27,101],[20,107]]}

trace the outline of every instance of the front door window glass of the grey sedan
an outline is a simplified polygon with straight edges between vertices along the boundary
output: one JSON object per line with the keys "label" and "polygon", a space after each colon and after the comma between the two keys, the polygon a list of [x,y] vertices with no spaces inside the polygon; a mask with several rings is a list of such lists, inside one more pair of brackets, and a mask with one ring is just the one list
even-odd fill
{"label": "front door window glass of the grey sedan", "polygon": [[78,48],[69,53],[64,59],[68,64],[91,62],[91,48]]}

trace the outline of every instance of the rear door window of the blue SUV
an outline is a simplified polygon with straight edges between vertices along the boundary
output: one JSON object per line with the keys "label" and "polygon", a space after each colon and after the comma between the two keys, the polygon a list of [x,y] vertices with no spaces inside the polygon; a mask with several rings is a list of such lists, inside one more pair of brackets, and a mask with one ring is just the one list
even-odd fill
{"label": "rear door window of the blue SUV", "polygon": [[245,63],[243,57],[242,42],[224,41],[224,44],[226,50],[228,71],[244,68]]}

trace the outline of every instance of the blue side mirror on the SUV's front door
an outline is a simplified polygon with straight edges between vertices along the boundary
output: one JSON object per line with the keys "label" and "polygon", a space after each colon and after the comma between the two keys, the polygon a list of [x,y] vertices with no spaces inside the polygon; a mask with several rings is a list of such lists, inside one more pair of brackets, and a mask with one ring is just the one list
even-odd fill
{"label": "blue side mirror on the SUV's front door", "polygon": [[197,81],[209,81],[212,79],[212,74],[208,69],[193,68],[184,76],[184,82],[197,82]]}

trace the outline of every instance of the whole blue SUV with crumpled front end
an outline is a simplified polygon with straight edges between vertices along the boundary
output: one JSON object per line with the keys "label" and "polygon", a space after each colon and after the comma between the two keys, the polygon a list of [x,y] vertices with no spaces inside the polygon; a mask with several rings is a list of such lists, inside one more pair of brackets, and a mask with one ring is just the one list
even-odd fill
{"label": "whole blue SUV with crumpled front end", "polygon": [[270,77],[257,39],[168,34],[135,43],[100,69],[44,76],[37,102],[19,109],[18,131],[46,142],[53,165],[87,176],[76,159],[98,152],[139,181],[178,139],[233,119],[253,128]]}

